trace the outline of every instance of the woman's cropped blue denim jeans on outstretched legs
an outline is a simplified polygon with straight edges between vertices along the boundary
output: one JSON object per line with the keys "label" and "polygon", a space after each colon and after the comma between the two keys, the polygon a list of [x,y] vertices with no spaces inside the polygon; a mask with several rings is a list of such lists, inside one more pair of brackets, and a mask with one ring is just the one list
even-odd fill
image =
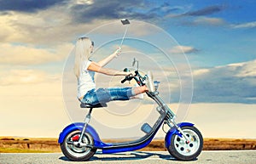
{"label": "woman's cropped blue denim jeans on outstretched legs", "polygon": [[88,105],[97,105],[113,100],[128,100],[132,96],[135,96],[132,88],[99,88],[88,91],[81,102]]}

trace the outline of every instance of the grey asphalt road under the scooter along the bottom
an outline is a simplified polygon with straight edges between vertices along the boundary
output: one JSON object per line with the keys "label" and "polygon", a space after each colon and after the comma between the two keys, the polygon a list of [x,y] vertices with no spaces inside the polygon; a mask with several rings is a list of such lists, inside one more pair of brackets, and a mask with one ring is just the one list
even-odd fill
{"label": "grey asphalt road under the scooter along the bottom", "polygon": [[195,161],[176,161],[166,151],[132,151],[126,153],[102,155],[97,153],[90,161],[68,161],[61,153],[49,154],[0,154],[1,164],[58,164],[58,163],[216,163],[216,164],[254,164],[256,163],[256,150],[241,151],[202,151]]}

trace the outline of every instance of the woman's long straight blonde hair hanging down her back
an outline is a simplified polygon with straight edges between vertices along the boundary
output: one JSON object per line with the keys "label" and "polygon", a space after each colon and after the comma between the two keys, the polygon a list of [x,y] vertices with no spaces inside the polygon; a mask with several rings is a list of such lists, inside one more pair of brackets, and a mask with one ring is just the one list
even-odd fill
{"label": "woman's long straight blonde hair hanging down her back", "polygon": [[75,45],[74,74],[79,78],[83,62],[90,58],[91,41],[89,37],[80,37]]}

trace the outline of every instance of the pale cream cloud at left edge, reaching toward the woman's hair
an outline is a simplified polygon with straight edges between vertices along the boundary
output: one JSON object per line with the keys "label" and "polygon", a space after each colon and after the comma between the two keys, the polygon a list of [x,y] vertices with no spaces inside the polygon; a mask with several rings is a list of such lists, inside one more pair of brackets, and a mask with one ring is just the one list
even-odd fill
{"label": "pale cream cloud at left edge, reaching toward the woman's hair", "polygon": [[49,62],[61,61],[70,52],[72,44],[63,44],[53,49],[35,48],[27,45],[0,45],[1,65],[40,65]]}

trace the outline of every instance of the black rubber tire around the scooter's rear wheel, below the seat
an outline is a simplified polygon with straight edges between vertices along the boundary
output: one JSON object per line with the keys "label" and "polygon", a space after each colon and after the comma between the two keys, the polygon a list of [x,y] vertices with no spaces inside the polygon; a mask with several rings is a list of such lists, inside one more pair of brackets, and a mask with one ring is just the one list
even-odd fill
{"label": "black rubber tire around the scooter's rear wheel, below the seat", "polygon": [[[94,156],[94,154],[96,153],[96,148],[88,148],[90,149],[90,152],[88,152],[84,156],[73,156],[72,154],[69,153],[69,151],[67,150],[67,138],[70,138],[70,136],[72,136],[73,134],[80,133],[81,131],[79,130],[73,130],[70,133],[67,133],[67,136],[65,137],[64,141],[60,144],[62,153],[71,161],[88,161],[90,157]],[[92,143],[90,144],[94,145],[94,139],[91,137],[90,133],[84,133],[84,136],[90,138],[90,140],[92,141]]]}

